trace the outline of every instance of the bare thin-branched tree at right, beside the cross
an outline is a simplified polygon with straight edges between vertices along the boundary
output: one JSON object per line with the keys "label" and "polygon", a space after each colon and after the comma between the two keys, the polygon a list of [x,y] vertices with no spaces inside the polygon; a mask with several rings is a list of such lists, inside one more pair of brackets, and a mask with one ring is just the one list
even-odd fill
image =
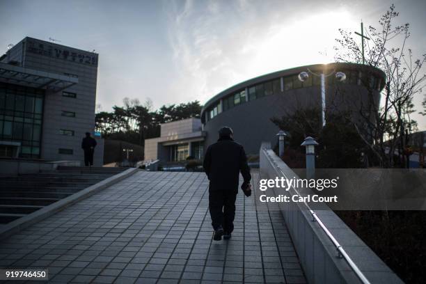
{"label": "bare thin-branched tree at right, beside the cross", "polygon": [[[386,168],[394,165],[395,150],[402,164],[408,161],[407,141],[417,125],[411,118],[415,111],[413,97],[422,93],[426,80],[423,69],[426,54],[420,59],[413,58],[413,52],[406,46],[410,37],[409,23],[394,26],[398,15],[392,5],[379,19],[378,29],[368,27],[370,40],[365,46],[365,55],[349,31],[339,29],[340,38],[336,39],[335,46],[338,62],[362,63],[365,59],[365,65],[360,65],[360,78],[361,85],[368,90],[370,109],[364,106],[359,109],[357,115],[362,118],[363,127],[359,123],[354,123],[354,127],[381,166]],[[377,82],[366,66],[379,68],[386,74],[385,81],[379,82],[384,86],[381,102],[374,100]]]}

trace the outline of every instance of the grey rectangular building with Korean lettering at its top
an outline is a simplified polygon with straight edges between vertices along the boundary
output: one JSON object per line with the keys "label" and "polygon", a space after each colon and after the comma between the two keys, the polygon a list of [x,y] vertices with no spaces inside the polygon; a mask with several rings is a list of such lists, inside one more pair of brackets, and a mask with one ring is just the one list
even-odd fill
{"label": "grey rectangular building with Korean lettering at its top", "polygon": [[[0,156],[84,161],[94,134],[99,56],[26,37],[0,57]],[[102,166],[97,138],[95,166]]]}

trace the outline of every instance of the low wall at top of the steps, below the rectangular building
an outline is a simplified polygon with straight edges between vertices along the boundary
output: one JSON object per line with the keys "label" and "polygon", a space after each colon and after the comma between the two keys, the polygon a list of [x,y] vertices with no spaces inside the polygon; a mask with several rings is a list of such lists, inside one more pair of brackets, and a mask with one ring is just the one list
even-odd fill
{"label": "low wall at top of the steps, below the rectangular building", "polygon": [[58,166],[80,166],[80,161],[43,161],[37,159],[0,159],[0,176],[55,171]]}

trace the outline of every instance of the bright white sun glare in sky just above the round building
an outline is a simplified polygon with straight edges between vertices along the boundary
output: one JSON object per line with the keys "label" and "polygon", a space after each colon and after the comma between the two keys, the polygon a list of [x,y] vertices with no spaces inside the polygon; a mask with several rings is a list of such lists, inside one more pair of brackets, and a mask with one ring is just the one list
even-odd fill
{"label": "bright white sun glare in sky just above the round building", "polygon": [[258,70],[281,70],[299,65],[333,62],[333,46],[338,29],[355,30],[358,26],[346,10],[299,17],[271,26],[258,43],[253,66]]}

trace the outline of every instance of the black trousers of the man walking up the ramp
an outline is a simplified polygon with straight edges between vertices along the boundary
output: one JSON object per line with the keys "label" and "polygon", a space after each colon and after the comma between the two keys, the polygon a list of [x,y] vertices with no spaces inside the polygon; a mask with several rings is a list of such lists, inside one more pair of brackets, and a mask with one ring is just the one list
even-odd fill
{"label": "black trousers of the man walking up the ramp", "polygon": [[219,226],[222,226],[225,232],[234,230],[236,199],[237,192],[235,191],[209,192],[209,211],[214,230]]}

